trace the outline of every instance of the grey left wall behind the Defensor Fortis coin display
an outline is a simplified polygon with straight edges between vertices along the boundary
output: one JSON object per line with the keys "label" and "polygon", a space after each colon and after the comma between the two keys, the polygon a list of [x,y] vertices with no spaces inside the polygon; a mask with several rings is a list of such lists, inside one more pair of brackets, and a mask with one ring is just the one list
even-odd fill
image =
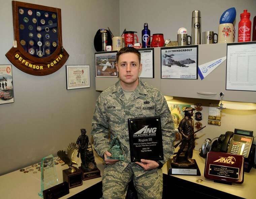
{"label": "grey left wall behind the Defensor Fortis coin display", "polygon": [[[0,105],[0,175],[66,150],[85,128],[90,136],[95,91],[94,36],[107,27],[119,34],[119,1],[25,0],[62,13],[63,46],[69,54],[53,74],[33,76],[12,65],[14,103]],[[0,0],[0,64],[13,45],[11,0]],[[66,90],[66,65],[90,65],[91,87]],[[90,142],[92,140],[90,139]]]}

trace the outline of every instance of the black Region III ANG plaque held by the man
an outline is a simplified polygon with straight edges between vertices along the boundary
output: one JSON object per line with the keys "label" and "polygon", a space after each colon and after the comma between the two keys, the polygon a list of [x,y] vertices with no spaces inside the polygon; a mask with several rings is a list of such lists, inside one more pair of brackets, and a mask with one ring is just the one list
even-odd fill
{"label": "black Region III ANG plaque held by the man", "polygon": [[160,117],[128,119],[131,162],[163,160]]}

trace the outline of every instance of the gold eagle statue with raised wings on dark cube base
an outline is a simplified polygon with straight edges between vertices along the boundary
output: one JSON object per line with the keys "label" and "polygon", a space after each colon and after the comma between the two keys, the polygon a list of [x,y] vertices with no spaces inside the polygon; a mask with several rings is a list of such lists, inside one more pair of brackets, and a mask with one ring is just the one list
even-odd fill
{"label": "gold eagle statue with raised wings on dark cube base", "polygon": [[73,160],[73,155],[76,149],[76,144],[71,143],[67,147],[67,154],[65,151],[62,150],[57,152],[59,158],[64,162],[63,165],[67,164],[69,166],[68,169],[64,169],[62,171],[63,181],[66,181],[68,183],[69,188],[83,185],[82,172],[73,166],[74,164],[77,165],[77,162]]}

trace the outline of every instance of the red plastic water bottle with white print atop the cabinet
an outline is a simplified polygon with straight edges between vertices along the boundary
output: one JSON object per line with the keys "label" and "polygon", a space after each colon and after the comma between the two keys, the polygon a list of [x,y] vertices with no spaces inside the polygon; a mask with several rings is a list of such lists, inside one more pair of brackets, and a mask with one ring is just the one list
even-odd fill
{"label": "red plastic water bottle with white print atop the cabinet", "polygon": [[251,26],[250,12],[244,10],[244,13],[240,14],[241,21],[238,23],[238,42],[251,41]]}

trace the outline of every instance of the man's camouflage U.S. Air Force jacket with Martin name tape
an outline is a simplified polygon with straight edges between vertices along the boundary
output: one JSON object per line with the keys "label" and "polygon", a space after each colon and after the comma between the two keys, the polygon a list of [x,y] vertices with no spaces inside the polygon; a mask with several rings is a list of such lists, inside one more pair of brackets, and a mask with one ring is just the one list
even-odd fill
{"label": "man's camouflage U.S. Air Force jacket with Martin name tape", "polygon": [[[154,116],[161,117],[164,160],[160,162],[164,164],[173,155],[175,138],[174,124],[164,96],[158,89],[139,79],[139,85],[127,100],[118,81],[104,90],[96,102],[91,131],[95,151],[104,159],[110,145],[108,132],[111,132],[111,139],[118,135],[125,151],[124,160],[111,166],[122,172],[130,163],[127,119]],[[131,164],[135,176],[146,172],[136,163]]]}

